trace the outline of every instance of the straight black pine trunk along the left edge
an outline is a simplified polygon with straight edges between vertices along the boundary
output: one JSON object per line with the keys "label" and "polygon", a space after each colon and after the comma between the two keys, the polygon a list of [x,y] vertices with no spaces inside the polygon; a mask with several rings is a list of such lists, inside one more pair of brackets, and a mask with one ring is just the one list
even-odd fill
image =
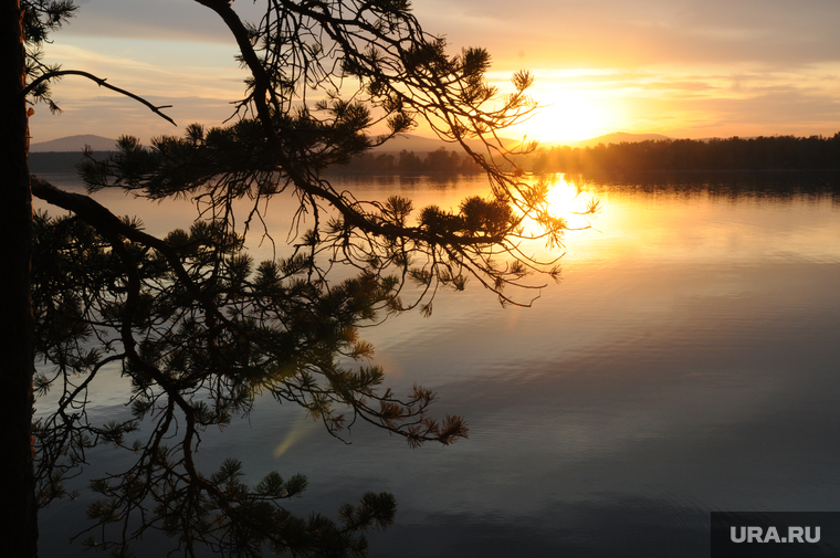
{"label": "straight black pine trunk along the left edge", "polygon": [[0,547],[38,556],[32,468],[34,328],[30,294],[32,197],[20,0],[0,0]]}

